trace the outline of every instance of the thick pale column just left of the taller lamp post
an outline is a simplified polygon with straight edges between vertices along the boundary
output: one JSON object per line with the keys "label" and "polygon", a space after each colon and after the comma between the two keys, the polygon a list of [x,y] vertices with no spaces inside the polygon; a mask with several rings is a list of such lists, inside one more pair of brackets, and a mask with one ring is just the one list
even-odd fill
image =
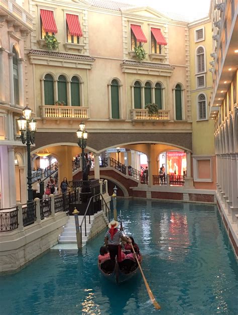
{"label": "thick pale column just left of the taller lamp post", "polygon": [[13,146],[8,146],[9,159],[9,194],[10,208],[16,206],[16,174],[15,174],[15,152]]}

